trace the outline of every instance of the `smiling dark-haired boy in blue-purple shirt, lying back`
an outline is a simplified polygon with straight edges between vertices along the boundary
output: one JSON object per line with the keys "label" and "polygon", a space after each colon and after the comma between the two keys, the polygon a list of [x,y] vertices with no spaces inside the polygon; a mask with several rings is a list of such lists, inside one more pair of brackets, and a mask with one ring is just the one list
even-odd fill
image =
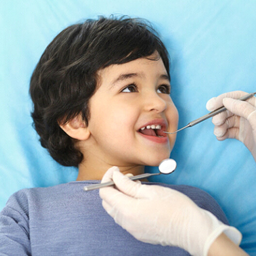
{"label": "smiling dark-haired boy in blue-purple shirt, lying back", "polygon": [[[31,78],[32,118],[42,146],[77,181],[25,189],[0,214],[0,253],[12,255],[189,255],[135,240],[83,192],[113,165],[138,175],[169,157],[178,113],[170,97],[168,53],[148,23],[126,17],[86,20],[48,45]],[[172,186],[225,215],[207,193]]]}

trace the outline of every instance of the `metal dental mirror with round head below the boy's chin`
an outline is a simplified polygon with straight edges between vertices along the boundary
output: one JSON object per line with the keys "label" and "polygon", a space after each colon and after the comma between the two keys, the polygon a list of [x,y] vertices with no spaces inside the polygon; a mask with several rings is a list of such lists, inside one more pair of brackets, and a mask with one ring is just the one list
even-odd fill
{"label": "metal dental mirror with round head below the boy's chin", "polygon": [[[143,179],[143,178],[160,175],[160,174],[171,174],[172,172],[175,171],[176,166],[177,166],[177,164],[176,164],[175,160],[165,159],[160,162],[160,165],[159,165],[160,172],[159,173],[153,173],[153,174],[145,173],[145,174],[129,177],[129,179],[137,180],[137,179]],[[109,181],[109,182],[105,182],[105,183],[98,183],[98,184],[94,184],[94,185],[84,186],[83,190],[90,191],[90,190],[100,189],[100,188],[109,187],[109,186],[113,186],[113,185],[114,185],[114,182]]]}

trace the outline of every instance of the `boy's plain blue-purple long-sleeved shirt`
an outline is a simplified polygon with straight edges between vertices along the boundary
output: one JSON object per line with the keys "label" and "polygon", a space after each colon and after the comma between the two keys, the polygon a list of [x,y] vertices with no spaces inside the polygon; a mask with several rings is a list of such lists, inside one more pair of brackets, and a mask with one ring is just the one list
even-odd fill
{"label": "boy's plain blue-purple long-sleeved shirt", "polygon": [[[98,190],[75,181],[13,194],[0,212],[0,256],[189,256],[184,250],[133,238],[101,205]],[[157,184],[188,195],[224,224],[227,219],[208,193],[190,186]]]}

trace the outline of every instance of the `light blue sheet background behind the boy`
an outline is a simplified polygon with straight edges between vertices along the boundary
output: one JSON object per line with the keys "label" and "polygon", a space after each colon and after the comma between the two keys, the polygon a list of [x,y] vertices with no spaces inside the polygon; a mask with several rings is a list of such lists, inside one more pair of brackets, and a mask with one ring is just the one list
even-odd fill
{"label": "light blue sheet background behind the boy", "polygon": [[[172,98],[179,127],[207,113],[224,92],[256,91],[254,0],[8,0],[0,2],[0,208],[19,189],[75,180],[32,128],[29,80],[44,49],[65,27],[98,15],[150,20],[171,56]],[[256,255],[256,163],[238,141],[218,142],[207,120],[177,134],[171,155],[177,169],[152,180],[189,184],[209,192],[241,247]],[[147,171],[157,172],[156,167]]]}

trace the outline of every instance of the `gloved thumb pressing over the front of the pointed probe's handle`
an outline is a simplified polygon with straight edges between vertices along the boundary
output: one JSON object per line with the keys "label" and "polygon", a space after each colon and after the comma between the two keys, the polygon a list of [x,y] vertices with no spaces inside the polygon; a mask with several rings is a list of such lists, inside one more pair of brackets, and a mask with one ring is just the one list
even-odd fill
{"label": "gloved thumb pressing over the front of the pointed probe's handle", "polygon": [[224,98],[223,104],[226,109],[234,114],[247,119],[253,130],[256,129],[256,107],[246,101],[241,101],[233,98]]}

